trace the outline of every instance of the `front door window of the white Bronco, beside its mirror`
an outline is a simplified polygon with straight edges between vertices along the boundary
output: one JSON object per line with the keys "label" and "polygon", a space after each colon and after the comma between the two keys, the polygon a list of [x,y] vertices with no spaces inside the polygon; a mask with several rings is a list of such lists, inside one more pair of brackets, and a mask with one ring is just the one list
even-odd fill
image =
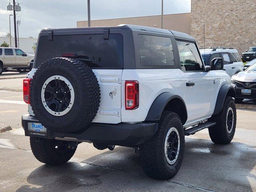
{"label": "front door window of the white Bronco, beside its mirror", "polygon": [[182,71],[204,71],[204,65],[196,48],[196,44],[177,41],[177,45]]}

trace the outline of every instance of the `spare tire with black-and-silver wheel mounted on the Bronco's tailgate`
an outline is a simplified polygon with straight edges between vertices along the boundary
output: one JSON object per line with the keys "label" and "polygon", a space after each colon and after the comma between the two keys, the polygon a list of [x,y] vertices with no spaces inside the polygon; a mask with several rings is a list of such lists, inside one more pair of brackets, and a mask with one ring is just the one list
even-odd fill
{"label": "spare tire with black-and-silver wheel mounted on the Bronco's tailgate", "polygon": [[30,87],[36,118],[54,132],[85,128],[100,106],[100,86],[92,69],[74,58],[52,58],[36,70]]}

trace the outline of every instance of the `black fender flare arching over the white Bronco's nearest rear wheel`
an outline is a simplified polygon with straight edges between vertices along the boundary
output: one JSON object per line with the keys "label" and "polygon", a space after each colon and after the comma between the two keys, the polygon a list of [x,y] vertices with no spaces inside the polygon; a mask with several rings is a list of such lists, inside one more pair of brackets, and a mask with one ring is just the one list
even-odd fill
{"label": "black fender flare arching over the white Bronco's nearest rear wheel", "polygon": [[[168,104],[168,102],[170,102],[170,100],[172,100],[174,98],[178,98],[178,99],[182,100],[182,102],[186,108],[186,104],[180,96],[174,95],[170,92],[164,92],[164,93],[161,93],[160,95],[158,95],[157,98],[152,103],[152,105],[148,111],[146,121],[160,120],[160,117],[162,115],[162,112],[163,112],[165,106]],[[186,113],[187,113],[187,108],[186,108]]]}

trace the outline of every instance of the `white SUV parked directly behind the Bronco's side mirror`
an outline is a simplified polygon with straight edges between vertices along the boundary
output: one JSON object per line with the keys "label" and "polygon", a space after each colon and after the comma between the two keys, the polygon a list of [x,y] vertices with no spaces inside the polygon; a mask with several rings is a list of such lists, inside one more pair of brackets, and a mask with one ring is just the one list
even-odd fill
{"label": "white SUV parked directly behind the Bronco's side mirror", "polygon": [[224,70],[231,77],[244,69],[238,51],[233,48],[209,48],[200,49],[205,65],[210,65],[214,58],[223,58]]}

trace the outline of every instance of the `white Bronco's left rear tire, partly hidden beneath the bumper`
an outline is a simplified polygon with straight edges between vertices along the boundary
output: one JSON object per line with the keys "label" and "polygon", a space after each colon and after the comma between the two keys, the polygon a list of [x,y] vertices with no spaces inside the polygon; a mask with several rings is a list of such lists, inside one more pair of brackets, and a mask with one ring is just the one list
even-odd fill
{"label": "white Bronco's left rear tire, partly hidden beneath the bumper", "polygon": [[77,145],[68,141],[30,137],[30,147],[36,159],[49,165],[61,165],[74,155]]}

